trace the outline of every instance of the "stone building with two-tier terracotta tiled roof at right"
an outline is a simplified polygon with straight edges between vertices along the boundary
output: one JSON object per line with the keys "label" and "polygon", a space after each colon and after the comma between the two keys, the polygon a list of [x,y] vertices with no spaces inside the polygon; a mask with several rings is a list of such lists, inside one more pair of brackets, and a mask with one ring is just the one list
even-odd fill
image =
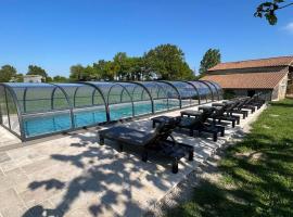
{"label": "stone building with two-tier terracotta tiled roof at right", "polygon": [[293,93],[292,78],[293,56],[279,56],[219,63],[202,79],[218,82],[227,95],[264,92],[267,100],[281,100]]}

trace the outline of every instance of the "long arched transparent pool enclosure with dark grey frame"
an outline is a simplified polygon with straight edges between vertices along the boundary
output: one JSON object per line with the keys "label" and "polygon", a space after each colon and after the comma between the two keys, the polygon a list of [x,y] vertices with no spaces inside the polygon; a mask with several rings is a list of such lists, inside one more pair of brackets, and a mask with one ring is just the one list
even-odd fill
{"label": "long arched transparent pool enclosure with dark grey frame", "polygon": [[222,99],[218,84],[0,84],[0,125],[22,141]]}

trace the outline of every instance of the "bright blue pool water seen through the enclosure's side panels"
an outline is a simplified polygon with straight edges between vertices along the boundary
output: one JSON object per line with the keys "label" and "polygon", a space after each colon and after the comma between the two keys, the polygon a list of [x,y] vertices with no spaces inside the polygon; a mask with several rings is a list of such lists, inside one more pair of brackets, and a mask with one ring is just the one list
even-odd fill
{"label": "bright blue pool water seen through the enclosure's side panels", "polygon": [[[151,114],[151,103],[135,103],[135,116]],[[178,107],[178,103],[169,102],[162,103],[162,101],[154,102],[155,112],[166,111]],[[126,117],[132,117],[132,105],[131,104],[116,104],[110,105],[110,118],[111,120],[117,120]],[[80,110],[74,112],[75,128],[91,126],[99,123],[106,122],[106,114],[104,107],[98,107],[94,110]],[[27,138],[36,137],[40,135],[47,135],[72,128],[71,114],[53,114],[46,116],[29,116],[24,118],[24,130]]]}

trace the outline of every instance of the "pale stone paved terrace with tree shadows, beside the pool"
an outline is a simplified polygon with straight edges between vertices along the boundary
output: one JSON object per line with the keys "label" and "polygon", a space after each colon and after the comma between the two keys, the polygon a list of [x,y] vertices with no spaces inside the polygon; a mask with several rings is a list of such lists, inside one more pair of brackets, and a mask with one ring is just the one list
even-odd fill
{"label": "pale stone paved terrace with tree shadows, beside the pool", "polygon": [[[181,161],[176,175],[170,162],[160,156],[143,163],[140,153],[126,146],[120,153],[109,141],[99,145],[95,129],[2,151],[0,216],[141,216],[232,135],[242,132],[262,110],[239,127],[228,128],[218,142],[208,135],[200,139],[175,133],[195,148],[195,161]],[[167,115],[177,116],[179,111]],[[152,130],[150,118],[127,125]]]}

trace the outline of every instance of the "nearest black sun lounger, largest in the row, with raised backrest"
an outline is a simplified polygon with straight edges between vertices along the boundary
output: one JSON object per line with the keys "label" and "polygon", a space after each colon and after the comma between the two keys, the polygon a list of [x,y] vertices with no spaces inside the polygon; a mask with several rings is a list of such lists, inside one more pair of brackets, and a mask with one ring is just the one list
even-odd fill
{"label": "nearest black sun lounger, largest in the row, with raised backrest", "polygon": [[[149,152],[155,151],[173,159],[173,173],[178,173],[178,162],[188,155],[189,161],[193,159],[193,146],[179,143],[171,136],[173,130],[178,124],[178,119],[171,118],[166,123],[161,123],[154,132],[140,131],[125,126],[116,126],[99,131],[100,144],[104,140],[113,140],[119,143],[120,151],[123,145],[133,145],[142,150],[142,161],[146,162]],[[170,138],[170,140],[168,140]]]}

